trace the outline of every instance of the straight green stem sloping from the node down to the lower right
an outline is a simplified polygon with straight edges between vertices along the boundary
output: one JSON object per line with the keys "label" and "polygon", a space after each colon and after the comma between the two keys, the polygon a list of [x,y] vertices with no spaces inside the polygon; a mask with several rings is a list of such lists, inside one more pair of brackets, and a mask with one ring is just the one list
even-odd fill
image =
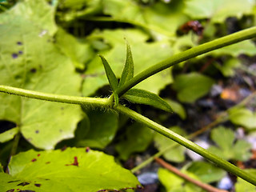
{"label": "straight green stem sloping from the node down to the lower right", "polygon": [[115,110],[117,110],[119,113],[126,114],[128,117],[142,123],[145,126],[148,126],[150,129],[157,131],[159,134],[166,136],[166,138],[170,138],[174,140],[174,142],[178,142],[182,146],[193,150],[195,153],[202,155],[202,157],[208,159],[210,162],[214,162],[217,166],[222,167],[222,169],[230,172],[231,174],[235,174],[256,186],[256,178],[254,178],[254,176],[246,173],[244,170],[239,169],[237,166],[234,166],[230,162],[226,162],[224,159],[219,158],[217,155],[210,153],[208,150],[205,150],[201,146],[196,145],[194,142],[183,138],[181,135],[174,133],[173,131],[159,125],[149,118],[144,117],[142,114],[138,114],[134,110],[130,110],[126,106],[118,105],[115,107]]}

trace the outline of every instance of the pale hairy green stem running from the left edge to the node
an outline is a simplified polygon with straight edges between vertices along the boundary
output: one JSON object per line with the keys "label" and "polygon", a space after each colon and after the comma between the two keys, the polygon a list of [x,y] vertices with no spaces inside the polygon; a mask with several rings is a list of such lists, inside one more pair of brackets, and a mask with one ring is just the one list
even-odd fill
{"label": "pale hairy green stem running from the left edge to the node", "polygon": [[66,96],[62,94],[46,94],[34,90],[23,90],[12,86],[0,85],[0,92],[6,94],[15,94],[26,98],[36,98],[49,102],[64,102],[82,106],[107,107],[112,102],[108,98],[86,98],[77,96]]}

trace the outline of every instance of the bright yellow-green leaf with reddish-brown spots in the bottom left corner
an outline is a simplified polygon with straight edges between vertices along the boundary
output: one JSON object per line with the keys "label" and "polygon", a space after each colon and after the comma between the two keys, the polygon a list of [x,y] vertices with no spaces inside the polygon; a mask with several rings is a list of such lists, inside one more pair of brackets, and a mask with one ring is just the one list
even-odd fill
{"label": "bright yellow-green leaf with reddish-brown spots in the bottom left corner", "polygon": [[0,173],[0,191],[119,191],[136,188],[137,178],[114,157],[89,148],[29,150],[15,155],[10,174]]}

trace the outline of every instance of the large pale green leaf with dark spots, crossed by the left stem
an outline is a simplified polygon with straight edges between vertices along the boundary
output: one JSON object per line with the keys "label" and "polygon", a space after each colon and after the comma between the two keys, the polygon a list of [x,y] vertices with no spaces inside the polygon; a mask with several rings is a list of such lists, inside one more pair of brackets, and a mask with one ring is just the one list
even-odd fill
{"label": "large pale green leaf with dark spots, crossed by the left stem", "polygon": [[[0,14],[0,84],[78,96],[82,78],[52,41],[56,26],[50,18],[54,18],[52,7],[38,0],[18,2]],[[5,101],[0,103],[0,120],[14,122],[26,141],[41,149],[53,149],[63,139],[74,137],[82,119],[80,106],[9,94],[0,94],[0,100]],[[9,138],[4,136],[2,141],[17,133],[8,131]]]}

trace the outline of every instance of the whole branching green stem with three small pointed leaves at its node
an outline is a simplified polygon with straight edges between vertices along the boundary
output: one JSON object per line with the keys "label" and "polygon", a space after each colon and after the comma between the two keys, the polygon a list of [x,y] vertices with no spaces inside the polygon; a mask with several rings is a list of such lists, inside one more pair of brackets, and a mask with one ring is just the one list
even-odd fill
{"label": "whole branching green stem with three small pointed leaves at its node", "polygon": [[[247,182],[250,182],[256,186],[256,178],[246,173],[246,171],[239,169],[237,166],[234,166],[230,162],[226,162],[221,157],[210,153],[208,150],[203,149],[201,146],[196,145],[194,142],[190,142],[190,140],[183,138],[181,135],[175,134],[173,131],[159,125],[157,122],[154,122],[149,118],[144,117],[142,114],[138,114],[134,110],[130,110],[128,107],[123,106],[122,103],[119,102],[119,98],[125,98],[129,102],[146,104],[158,107],[161,110],[166,110],[167,112],[172,112],[171,106],[169,106],[167,102],[165,102],[157,94],[150,93],[146,90],[134,89],[133,87],[146,78],[149,78],[151,75],[165,70],[170,66],[174,66],[179,62],[183,62],[198,55],[206,54],[211,50],[217,50],[223,46],[229,46],[236,42],[242,42],[243,40],[254,37],[256,37],[256,27],[251,27],[250,29],[242,30],[234,34],[227,35],[223,38],[218,38],[214,41],[195,46],[194,48],[186,50],[182,53],[175,54],[174,56],[171,56],[170,58],[167,58],[166,60],[158,62],[154,66],[143,70],[136,76],[134,76],[134,62],[131,48],[127,43],[126,62],[124,64],[122,76],[119,82],[118,78],[114,74],[113,70],[111,70],[109,63],[106,61],[104,56],[99,55],[99,57],[102,59],[102,63],[106,70],[106,76],[110,83],[110,88],[113,92],[109,98],[88,98],[60,94],[46,94],[38,91],[23,90],[5,85],[0,86],[0,91],[6,94],[15,94],[26,98],[41,99],[49,102],[64,102],[74,105],[100,107],[117,111],[118,113],[125,114],[129,118],[132,118],[135,121],[149,127],[150,129],[157,131],[159,134],[166,136],[166,138],[170,138],[175,142],[178,142],[180,145],[193,150],[195,153],[202,155],[202,157],[208,159],[210,162],[214,162],[217,166],[222,167],[222,169],[229,171],[230,173],[237,175],[238,177],[243,178]],[[75,159],[77,161],[79,160],[79,158]],[[76,163],[76,166],[78,166],[78,163]]]}

